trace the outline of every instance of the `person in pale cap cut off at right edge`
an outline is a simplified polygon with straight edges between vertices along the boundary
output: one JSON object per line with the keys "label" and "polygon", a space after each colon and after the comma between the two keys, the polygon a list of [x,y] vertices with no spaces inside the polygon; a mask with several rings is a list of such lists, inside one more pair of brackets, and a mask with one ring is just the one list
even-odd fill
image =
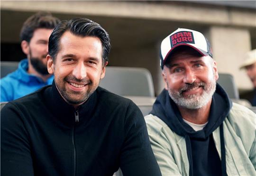
{"label": "person in pale cap cut off at right edge", "polygon": [[240,69],[246,69],[254,89],[240,94],[241,99],[247,99],[252,106],[256,106],[256,49],[246,53],[245,61]]}

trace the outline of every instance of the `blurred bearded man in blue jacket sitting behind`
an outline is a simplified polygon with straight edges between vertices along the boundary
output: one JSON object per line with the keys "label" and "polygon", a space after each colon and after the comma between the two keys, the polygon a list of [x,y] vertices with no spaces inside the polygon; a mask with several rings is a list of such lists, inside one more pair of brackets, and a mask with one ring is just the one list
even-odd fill
{"label": "blurred bearded man in blue jacket sitting behind", "polygon": [[46,56],[49,36],[59,22],[46,12],[38,12],[24,22],[20,40],[27,59],[20,61],[15,72],[1,79],[1,102],[18,99],[52,84],[53,75],[47,71]]}

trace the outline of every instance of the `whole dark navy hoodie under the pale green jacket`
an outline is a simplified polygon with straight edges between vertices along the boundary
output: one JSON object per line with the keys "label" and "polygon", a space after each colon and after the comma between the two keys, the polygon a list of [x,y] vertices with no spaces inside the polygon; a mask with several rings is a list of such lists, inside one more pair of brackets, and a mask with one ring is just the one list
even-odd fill
{"label": "whole dark navy hoodie under the pale green jacket", "polygon": [[[223,121],[228,116],[231,107],[232,102],[229,96],[223,88],[216,83],[216,91],[212,96],[208,123],[202,130],[194,131],[191,126],[183,121],[178,107],[166,90],[163,90],[157,97],[150,113],[159,117],[171,130],[185,138],[189,160],[189,176],[209,174],[227,176]],[[221,160],[211,135],[218,127],[220,130]],[[201,143],[200,141],[204,142]],[[208,152],[210,152],[210,155],[208,155]],[[201,163],[204,161],[206,161],[206,163],[211,161],[209,163],[214,163],[215,168],[211,167],[212,164],[202,166]]]}

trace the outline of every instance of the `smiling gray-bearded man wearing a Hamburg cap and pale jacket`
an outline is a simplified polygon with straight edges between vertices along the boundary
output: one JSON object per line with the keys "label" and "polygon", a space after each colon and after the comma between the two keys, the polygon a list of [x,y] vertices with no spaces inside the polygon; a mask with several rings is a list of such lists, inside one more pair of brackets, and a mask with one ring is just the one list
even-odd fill
{"label": "smiling gray-bearded man wearing a Hamburg cap and pale jacket", "polygon": [[256,175],[256,115],[216,83],[208,40],[179,28],[160,58],[165,90],[145,119],[162,175]]}

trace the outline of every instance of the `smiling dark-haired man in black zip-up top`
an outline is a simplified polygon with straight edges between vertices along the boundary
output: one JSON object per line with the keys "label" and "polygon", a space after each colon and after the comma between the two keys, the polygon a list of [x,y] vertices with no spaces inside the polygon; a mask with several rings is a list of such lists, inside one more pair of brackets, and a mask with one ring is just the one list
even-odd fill
{"label": "smiling dark-haired man in black zip-up top", "polygon": [[110,52],[97,23],[62,21],[49,38],[54,82],[1,110],[1,174],[160,176],[144,117],[130,100],[98,87]]}

